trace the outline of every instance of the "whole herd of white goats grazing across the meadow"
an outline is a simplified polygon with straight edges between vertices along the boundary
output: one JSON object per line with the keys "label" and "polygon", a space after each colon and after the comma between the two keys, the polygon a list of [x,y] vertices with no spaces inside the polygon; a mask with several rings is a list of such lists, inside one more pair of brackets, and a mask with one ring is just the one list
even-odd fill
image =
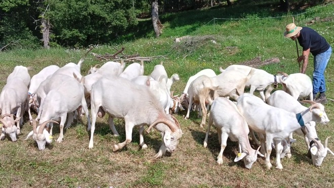
{"label": "whole herd of white goats grazing across the meadow", "polygon": [[[276,168],[282,169],[280,159],[291,157],[290,143],[295,141],[292,132],[305,136],[308,156],[315,166],[321,165],[327,152],[334,155],[327,147],[329,137],[325,145],[318,139],[315,122],[326,124],[329,120],[324,106],[313,102],[312,82],[306,74],[287,75],[278,72],[279,75],[275,76],[245,65],[231,65],[226,69],[220,67],[221,73],[218,75],[212,69],[204,69],[189,78],[182,95],[178,97],[173,96],[170,88],[179,80],[179,76],[175,73],[168,78],[162,63],[154,67],[150,76],[143,76],[143,61],[141,64],[132,63],[126,68],[123,61],[109,61],[100,68],[98,65],[91,67],[84,77],[81,74],[83,61],[81,59],[78,64],[68,63],[61,68],[50,65],[31,80],[28,73],[31,67],[16,66],[0,94],[1,140],[5,139],[6,134],[12,141],[17,140],[17,135],[21,134],[23,114],[27,111],[33,131],[26,139],[32,136],[40,151],[43,151],[52,142],[53,123],[58,124],[60,120],[57,139],[60,143],[64,138],[63,128],[67,115],[65,129],[69,128],[73,119],[81,119],[85,115],[88,120],[87,130],[91,133],[88,147],[93,148],[96,119],[108,114],[107,122],[114,135],[119,135],[114,118],[125,120],[126,140],[115,144],[113,151],[131,142],[134,126],[139,128],[140,147],[147,147],[143,132],[144,126],[149,125],[147,133],[151,128],[161,133],[163,142],[154,156],[160,158],[167,151],[175,151],[183,134],[172,114],[187,108],[185,119],[188,119],[191,110],[198,110],[199,117],[202,116],[200,127],[203,127],[211,106],[203,146],[207,146],[210,126],[213,124],[217,128],[221,145],[218,164],[222,164],[222,153],[230,137],[239,143],[235,162],[243,159],[245,167],[249,169],[259,155],[266,157],[266,165],[270,169],[270,154],[272,148],[275,148]],[[272,84],[275,88],[281,84],[283,91],[271,94]],[[250,88],[249,94],[244,93],[245,88]],[[253,95],[255,90],[259,91],[262,99]],[[301,97],[309,97],[310,100],[299,101]],[[301,103],[309,103],[311,106],[305,107]],[[30,108],[38,113],[36,119],[32,118]],[[257,149],[251,147],[249,133],[254,143],[259,145]]]}

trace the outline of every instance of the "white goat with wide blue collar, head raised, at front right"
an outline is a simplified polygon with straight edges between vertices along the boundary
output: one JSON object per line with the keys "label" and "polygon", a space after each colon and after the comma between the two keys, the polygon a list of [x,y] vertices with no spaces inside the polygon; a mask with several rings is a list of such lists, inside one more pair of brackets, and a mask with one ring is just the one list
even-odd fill
{"label": "white goat with wide blue collar, head raised, at front right", "polygon": [[[280,161],[282,152],[281,140],[287,138],[289,134],[311,121],[326,124],[329,122],[324,106],[319,103],[313,103],[310,108],[300,111],[298,114],[286,111],[281,108],[270,106],[264,103],[258,97],[244,93],[237,100],[237,107],[240,114],[245,118],[249,128],[261,133],[261,147],[266,143],[266,165],[271,168],[270,154],[272,151],[272,140],[275,140],[276,150],[276,168],[282,169]],[[313,101],[306,101],[313,102]],[[264,135],[266,134],[266,138]],[[289,144],[289,140],[288,140]]]}

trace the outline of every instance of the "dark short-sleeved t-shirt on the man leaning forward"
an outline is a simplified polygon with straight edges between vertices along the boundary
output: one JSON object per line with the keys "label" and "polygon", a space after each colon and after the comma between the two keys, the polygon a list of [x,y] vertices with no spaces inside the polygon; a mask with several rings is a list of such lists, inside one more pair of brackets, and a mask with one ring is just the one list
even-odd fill
{"label": "dark short-sleeved t-shirt on the man leaning forward", "polygon": [[297,39],[303,51],[310,48],[313,56],[326,52],[329,48],[325,38],[309,27],[303,27]]}

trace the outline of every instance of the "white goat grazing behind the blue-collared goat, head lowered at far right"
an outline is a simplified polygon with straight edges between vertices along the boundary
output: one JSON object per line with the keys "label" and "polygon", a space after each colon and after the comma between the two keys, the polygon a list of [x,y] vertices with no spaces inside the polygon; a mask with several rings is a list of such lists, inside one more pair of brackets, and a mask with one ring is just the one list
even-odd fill
{"label": "white goat grazing behind the blue-collared goat, head lowered at far right", "polygon": [[[270,95],[270,92],[272,90],[273,90],[273,88],[270,87],[266,91],[266,101],[269,105],[285,109],[285,110],[293,112],[295,114],[297,114],[300,111],[303,111],[303,110],[307,109],[307,107],[303,106],[301,103],[299,103],[297,100],[295,100],[291,95],[285,93],[284,91],[278,90],[278,91],[275,91],[272,95]],[[313,104],[316,104],[316,102],[313,102]],[[310,123],[305,124],[305,126],[308,129],[308,133],[306,135],[303,134],[301,129],[297,129],[297,130],[294,131],[294,133],[296,133],[298,135],[301,135],[301,136],[304,135],[305,136],[305,142],[306,142],[306,146],[307,146],[308,151],[310,151],[310,147],[311,147],[310,142],[312,141],[312,139],[319,140],[318,135],[317,135],[317,131],[315,129],[315,125],[316,124],[313,121],[311,121]],[[289,138],[292,139],[292,132],[290,133]],[[317,147],[317,150],[314,151],[315,149],[313,149],[311,151],[311,152],[315,152],[314,155],[312,155],[311,157],[312,157],[313,162],[316,161],[316,163],[314,163],[314,165],[320,166],[323,159],[327,155],[327,149],[325,149],[325,148],[327,148],[327,145],[324,147],[321,144],[320,141],[315,142],[315,144],[317,146],[314,146],[314,147]],[[318,148],[321,148],[321,149],[318,149]],[[330,149],[328,151],[330,151]],[[290,151],[288,151],[288,153],[286,154],[286,157],[287,158],[291,157]]]}

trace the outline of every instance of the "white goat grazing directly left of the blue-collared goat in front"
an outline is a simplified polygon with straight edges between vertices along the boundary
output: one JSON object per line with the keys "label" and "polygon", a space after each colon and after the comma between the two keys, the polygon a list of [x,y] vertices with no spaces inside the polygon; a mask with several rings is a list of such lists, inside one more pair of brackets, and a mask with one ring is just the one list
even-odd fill
{"label": "white goat grazing directly left of the blue-collared goat in front", "polygon": [[227,145],[227,139],[230,137],[232,141],[237,141],[239,144],[239,153],[234,162],[244,159],[245,167],[250,169],[256,161],[257,155],[265,157],[257,150],[250,146],[248,140],[248,125],[245,119],[241,116],[237,106],[229,99],[218,97],[214,99],[211,105],[211,112],[208,121],[208,128],[203,146],[207,146],[210,127],[214,124],[217,128],[218,139],[220,144],[220,153],[217,157],[217,163],[222,164],[222,153]]}

